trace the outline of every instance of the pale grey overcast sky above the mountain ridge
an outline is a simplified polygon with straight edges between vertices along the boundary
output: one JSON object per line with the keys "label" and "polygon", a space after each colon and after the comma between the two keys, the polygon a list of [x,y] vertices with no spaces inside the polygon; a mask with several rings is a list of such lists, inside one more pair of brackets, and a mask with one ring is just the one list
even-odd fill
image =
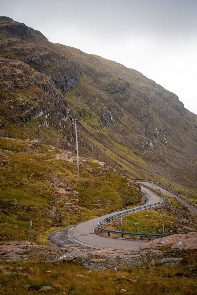
{"label": "pale grey overcast sky above the mountain ridge", "polygon": [[197,114],[197,0],[0,0],[0,14],[136,69]]}

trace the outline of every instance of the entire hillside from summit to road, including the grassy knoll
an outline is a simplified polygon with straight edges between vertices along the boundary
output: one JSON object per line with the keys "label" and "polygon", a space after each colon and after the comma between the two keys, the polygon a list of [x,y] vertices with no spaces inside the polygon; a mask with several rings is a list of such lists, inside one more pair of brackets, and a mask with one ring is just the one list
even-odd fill
{"label": "entire hillside from summit to road, including the grassy knoll", "polygon": [[175,94],[8,17],[0,17],[0,68],[2,241],[27,239],[30,220],[39,242],[51,227],[139,204],[120,173],[156,178],[196,201],[197,119]]}

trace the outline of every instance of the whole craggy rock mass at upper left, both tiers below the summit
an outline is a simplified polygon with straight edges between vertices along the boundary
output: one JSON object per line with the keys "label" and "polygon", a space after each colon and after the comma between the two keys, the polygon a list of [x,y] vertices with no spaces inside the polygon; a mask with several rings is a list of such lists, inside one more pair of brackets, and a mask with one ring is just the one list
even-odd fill
{"label": "whole craggy rock mass at upper left, both tiers below the summit", "polygon": [[62,140],[72,141],[72,111],[61,92],[80,83],[81,67],[43,45],[48,39],[25,24],[0,17],[0,32],[4,36],[0,38],[0,116],[4,129],[0,134],[9,137],[10,124],[21,127],[41,117],[37,135],[43,137],[41,127],[52,127],[64,131]]}

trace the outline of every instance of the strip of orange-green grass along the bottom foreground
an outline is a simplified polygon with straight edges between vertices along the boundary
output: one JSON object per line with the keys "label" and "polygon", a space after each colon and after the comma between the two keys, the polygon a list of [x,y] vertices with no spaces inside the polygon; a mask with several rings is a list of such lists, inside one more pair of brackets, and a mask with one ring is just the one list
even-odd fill
{"label": "strip of orange-green grass along the bottom foreground", "polygon": [[[185,257],[187,263],[180,265],[163,267],[156,261],[156,266],[151,268],[124,267],[118,273],[113,270],[88,272],[77,263],[4,261],[0,263],[0,294],[33,295],[42,293],[38,292],[42,286],[52,286],[43,293],[116,295],[123,294],[121,289],[125,289],[134,294],[194,295],[197,288],[195,258],[195,254],[188,254]],[[129,283],[127,278],[137,282]]]}

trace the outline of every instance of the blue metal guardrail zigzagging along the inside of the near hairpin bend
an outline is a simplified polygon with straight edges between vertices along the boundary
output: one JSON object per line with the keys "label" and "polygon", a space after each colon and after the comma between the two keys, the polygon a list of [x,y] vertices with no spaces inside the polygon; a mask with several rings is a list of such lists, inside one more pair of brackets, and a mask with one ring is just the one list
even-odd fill
{"label": "blue metal guardrail zigzagging along the inside of the near hairpin bend", "polygon": [[162,194],[159,194],[158,191],[155,191],[154,189],[150,188],[149,186],[146,186],[145,184],[143,183],[139,183],[140,185],[150,189],[151,191],[153,191],[155,194],[157,194],[158,196],[160,196],[162,198],[162,201],[161,202],[158,202],[158,203],[154,203],[154,204],[150,204],[150,205],[145,205],[145,206],[141,206],[141,207],[138,207],[138,208],[133,208],[133,209],[130,209],[130,210],[127,210],[125,212],[122,212],[122,213],[119,213],[119,214],[115,214],[113,216],[110,216],[108,218],[105,218],[105,219],[102,219],[99,223],[98,223],[98,230],[100,230],[100,232],[108,232],[108,237],[110,236],[110,233],[112,234],[117,234],[117,235],[121,235],[123,237],[123,235],[127,235],[127,236],[138,236],[140,237],[140,240],[142,237],[158,237],[158,238],[161,238],[161,237],[167,237],[168,235],[155,235],[155,234],[144,234],[144,233],[136,233],[136,232],[119,232],[119,231],[115,231],[115,230],[107,230],[103,227],[101,227],[101,225],[105,222],[110,222],[110,221],[113,221],[114,219],[116,218],[120,218],[121,216],[124,216],[124,215],[128,215],[128,213],[131,213],[131,212],[136,212],[136,211],[141,211],[141,210],[146,210],[146,209],[152,209],[154,207],[157,207],[161,204],[163,204],[165,202],[165,198]]}

